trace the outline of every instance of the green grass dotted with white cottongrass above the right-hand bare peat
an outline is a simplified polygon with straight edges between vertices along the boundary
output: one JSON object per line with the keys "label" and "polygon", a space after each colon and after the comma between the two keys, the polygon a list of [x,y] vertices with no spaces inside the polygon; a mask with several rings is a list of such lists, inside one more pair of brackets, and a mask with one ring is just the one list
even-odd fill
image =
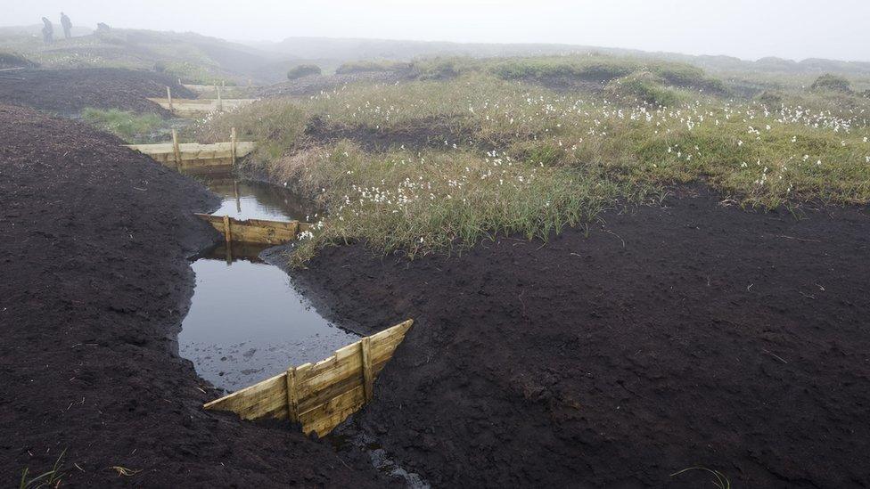
{"label": "green grass dotted with white cottongrass above the right-hand bare peat", "polygon": [[[329,208],[298,264],[346,240],[414,256],[497,233],[546,239],[603,208],[658,199],[671,185],[693,182],[747,208],[870,201],[870,111],[855,95],[788,92],[778,106],[733,102],[664,88],[661,71],[642,71],[622,78],[620,89],[630,90],[614,98],[554,93],[486,69],[458,71],[447,80],[255,103],[201,128],[201,137],[237,127],[263,142],[250,165],[277,182],[299,183]],[[351,141],[311,139],[305,128],[314,118],[388,141],[431,127],[445,144],[370,153]]]}

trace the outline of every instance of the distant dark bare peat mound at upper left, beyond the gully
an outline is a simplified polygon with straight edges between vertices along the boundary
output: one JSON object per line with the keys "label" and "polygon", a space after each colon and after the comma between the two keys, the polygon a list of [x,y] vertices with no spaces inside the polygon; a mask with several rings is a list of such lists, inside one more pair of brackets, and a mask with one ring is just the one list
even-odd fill
{"label": "distant dark bare peat mound at upper left, beyond the gully", "polygon": [[133,69],[22,69],[0,79],[0,103],[27,105],[62,115],[77,115],[86,107],[154,112],[169,111],[147,97],[195,98],[173,77]]}

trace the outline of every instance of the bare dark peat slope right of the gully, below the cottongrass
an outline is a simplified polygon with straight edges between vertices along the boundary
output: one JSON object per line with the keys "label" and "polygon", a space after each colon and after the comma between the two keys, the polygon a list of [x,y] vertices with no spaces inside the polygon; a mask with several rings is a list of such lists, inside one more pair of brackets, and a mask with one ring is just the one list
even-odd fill
{"label": "bare dark peat slope right of the gully, below the cottongrass", "polygon": [[436,487],[870,484],[867,210],[687,192],[546,246],[324,249],[332,315],[416,320],[357,428]]}

